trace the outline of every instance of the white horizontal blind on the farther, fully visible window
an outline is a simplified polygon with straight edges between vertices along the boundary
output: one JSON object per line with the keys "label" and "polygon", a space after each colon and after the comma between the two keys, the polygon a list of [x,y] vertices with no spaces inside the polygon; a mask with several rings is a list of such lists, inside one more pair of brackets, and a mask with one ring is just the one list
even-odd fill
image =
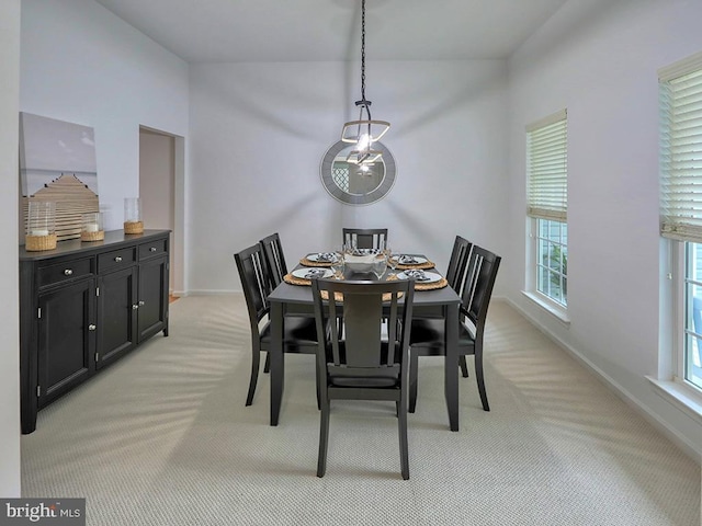
{"label": "white horizontal blind on the farther, fully visible window", "polygon": [[526,126],[526,214],[566,222],[568,214],[568,126],[565,110]]}

